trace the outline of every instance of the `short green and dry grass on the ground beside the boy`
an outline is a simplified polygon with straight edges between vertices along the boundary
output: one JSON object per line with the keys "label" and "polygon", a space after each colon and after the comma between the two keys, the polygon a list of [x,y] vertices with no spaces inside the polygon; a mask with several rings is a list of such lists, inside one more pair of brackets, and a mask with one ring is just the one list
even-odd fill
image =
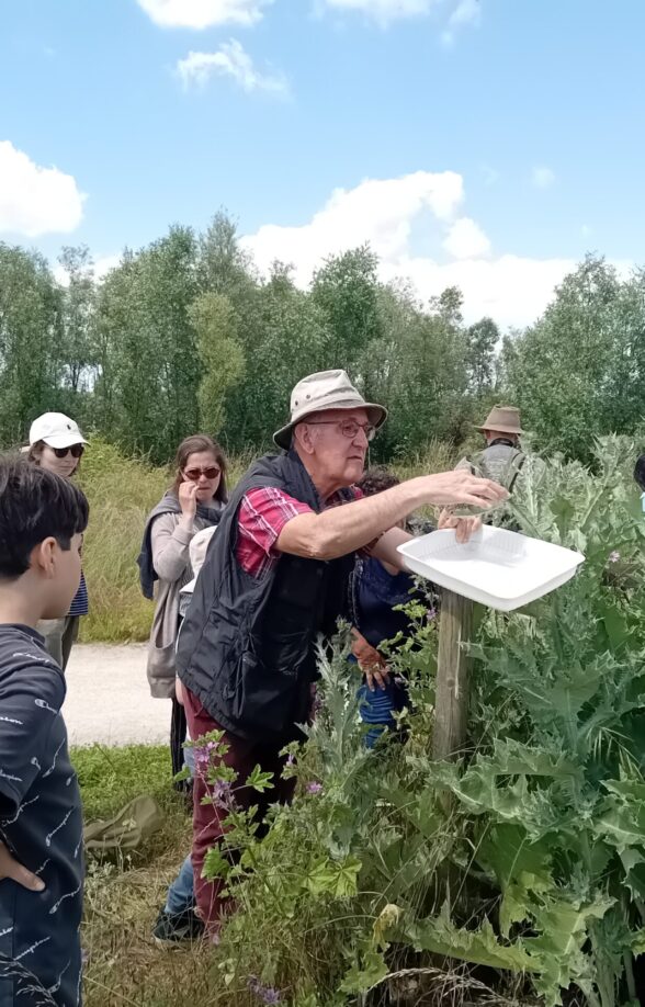
{"label": "short green and dry grass on the ground beside the boy", "polygon": [[[142,793],[155,797],[163,825],[142,850],[88,858],[82,946],[86,1007],[206,1007],[214,995],[208,947],[161,950],[150,931],[166,890],[190,848],[191,818],[172,790],[167,746],[75,748],[86,822],[110,818]],[[229,1002],[230,1003],[230,1002]]]}

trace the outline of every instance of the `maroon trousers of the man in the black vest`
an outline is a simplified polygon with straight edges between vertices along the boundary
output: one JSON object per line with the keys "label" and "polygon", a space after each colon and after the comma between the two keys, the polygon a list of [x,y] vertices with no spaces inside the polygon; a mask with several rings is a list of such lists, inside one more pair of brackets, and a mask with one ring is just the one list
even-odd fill
{"label": "maroon trousers of the man in the black vest", "polygon": [[[222,731],[219,724],[213,720],[200,700],[184,687],[184,705],[190,736],[193,740],[207,734],[210,731]],[[293,797],[295,780],[283,780],[282,770],[285,759],[280,756],[282,745],[270,745],[240,738],[237,735],[224,733],[223,742],[229,746],[222,762],[230,766],[238,773],[234,783],[235,801],[240,807],[258,806],[258,817],[261,821],[267,814],[270,804],[288,803]],[[211,763],[213,765],[213,763]],[[273,788],[263,794],[249,787],[244,787],[253,768],[259,766],[264,772],[273,773]],[[225,883],[220,880],[206,881],[202,878],[204,858],[208,850],[216,846],[224,828],[223,821],[227,817],[227,810],[211,801],[202,804],[202,799],[213,795],[213,788],[206,783],[204,763],[196,760],[195,779],[193,783],[193,848],[192,861],[195,881],[195,901],[197,910],[206,928],[216,932],[219,920],[227,912],[227,899],[222,897]]]}

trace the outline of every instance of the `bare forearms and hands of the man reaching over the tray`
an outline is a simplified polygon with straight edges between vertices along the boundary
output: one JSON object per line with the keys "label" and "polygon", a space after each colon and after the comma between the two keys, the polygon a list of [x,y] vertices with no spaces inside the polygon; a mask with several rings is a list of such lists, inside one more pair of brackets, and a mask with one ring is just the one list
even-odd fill
{"label": "bare forearms and hands of the man reaching over the tray", "polygon": [[[389,530],[388,535],[392,534],[394,525],[425,504],[442,507],[468,504],[488,508],[491,502],[503,500],[507,496],[506,489],[497,483],[480,479],[465,469],[419,476],[373,497],[363,497],[342,507],[330,507],[319,514],[313,511],[297,514],[284,525],[276,545],[283,553],[308,559],[336,559],[362,548],[383,532]],[[469,518],[443,518],[442,527],[456,528],[457,539],[466,541],[475,525]],[[404,538],[399,542],[406,541],[406,533],[400,534]],[[396,550],[396,559],[389,555],[384,557],[376,552],[374,554],[401,566]]]}

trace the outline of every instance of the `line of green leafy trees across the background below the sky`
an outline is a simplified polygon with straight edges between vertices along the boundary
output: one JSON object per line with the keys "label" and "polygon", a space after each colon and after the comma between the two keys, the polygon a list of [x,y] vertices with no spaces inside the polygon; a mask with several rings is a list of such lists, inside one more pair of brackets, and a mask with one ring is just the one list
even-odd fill
{"label": "line of green leafy trees across the background below the sky", "polygon": [[489,406],[519,405],[544,450],[589,456],[592,434],[633,434],[645,369],[645,273],[621,279],[588,257],[534,325],[500,339],[465,325],[449,287],[421,304],[383,284],[367,246],[325,261],[308,290],[288,264],[261,278],[235,224],[172,226],[99,281],[87,248],[56,275],[36,251],[0,242],[0,443],[24,441],[56,409],[129,454],[165,463],[203,430],[258,451],[304,374],[346,367],[391,410],[380,461],[434,439],[462,442]]}

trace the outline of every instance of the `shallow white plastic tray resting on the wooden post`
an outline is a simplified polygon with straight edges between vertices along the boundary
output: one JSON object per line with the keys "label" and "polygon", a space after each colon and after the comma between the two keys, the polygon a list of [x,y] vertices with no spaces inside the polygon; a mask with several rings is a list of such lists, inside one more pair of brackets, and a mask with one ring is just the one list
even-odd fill
{"label": "shallow white plastic tray resting on the wooden post", "polygon": [[399,545],[408,569],[491,609],[511,612],[566,584],[581,553],[485,524],[469,542],[437,531]]}

